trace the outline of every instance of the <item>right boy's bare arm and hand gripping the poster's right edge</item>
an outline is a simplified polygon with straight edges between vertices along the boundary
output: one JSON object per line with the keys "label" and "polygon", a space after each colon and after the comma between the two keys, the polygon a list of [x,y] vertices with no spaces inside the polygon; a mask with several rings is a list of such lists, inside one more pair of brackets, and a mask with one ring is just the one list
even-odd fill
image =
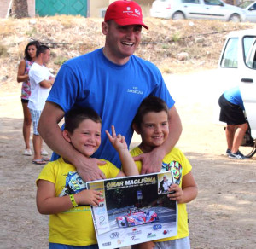
{"label": "right boy's bare arm and hand gripping the poster's right edge", "polygon": [[183,176],[182,188],[177,184],[172,184],[169,189],[175,192],[173,194],[168,194],[167,196],[170,200],[177,200],[177,203],[188,203],[189,201],[194,200],[198,192],[195,178],[191,171]]}

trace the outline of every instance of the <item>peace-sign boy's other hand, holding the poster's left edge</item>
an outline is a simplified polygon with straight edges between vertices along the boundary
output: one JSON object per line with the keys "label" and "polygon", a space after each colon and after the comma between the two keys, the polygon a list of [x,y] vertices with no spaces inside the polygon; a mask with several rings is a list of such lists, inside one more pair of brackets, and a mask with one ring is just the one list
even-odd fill
{"label": "peace-sign boy's other hand, holding the poster's left edge", "polygon": [[92,190],[92,189],[85,189],[78,194],[74,194],[74,198],[79,205],[92,205],[98,206],[101,200],[102,192]]}

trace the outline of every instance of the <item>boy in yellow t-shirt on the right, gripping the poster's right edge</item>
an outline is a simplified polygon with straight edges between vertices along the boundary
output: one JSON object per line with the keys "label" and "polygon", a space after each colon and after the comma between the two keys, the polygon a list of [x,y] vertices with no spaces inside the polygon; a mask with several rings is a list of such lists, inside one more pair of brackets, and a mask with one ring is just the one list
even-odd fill
{"label": "boy in yellow t-shirt on the right, gripping the poster's right edge", "polygon": [[[168,107],[166,102],[155,96],[148,96],[143,100],[133,119],[132,128],[142,137],[141,144],[131,151],[133,157],[142,153],[149,153],[155,147],[163,144],[168,135]],[[137,168],[142,169],[141,161],[137,161]],[[171,185],[173,194],[168,194],[170,200],[177,201],[177,235],[156,241],[150,241],[132,248],[151,249],[151,248],[172,248],[172,249],[189,249],[189,226],[186,203],[195,199],[197,195],[197,186],[192,175],[192,166],[189,160],[178,149],[173,148],[166,154],[162,162],[161,171],[172,171],[175,184]],[[171,191],[171,189],[169,190]]]}

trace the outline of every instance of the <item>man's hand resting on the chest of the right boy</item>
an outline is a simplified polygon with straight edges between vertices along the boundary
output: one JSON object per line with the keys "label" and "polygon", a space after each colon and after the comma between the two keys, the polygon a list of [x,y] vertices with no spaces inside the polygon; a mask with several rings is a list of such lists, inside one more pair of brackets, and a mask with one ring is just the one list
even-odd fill
{"label": "man's hand resting on the chest of the right boy", "polygon": [[150,153],[140,154],[133,159],[142,162],[141,174],[150,174],[160,172],[164,157],[165,155],[154,149]]}

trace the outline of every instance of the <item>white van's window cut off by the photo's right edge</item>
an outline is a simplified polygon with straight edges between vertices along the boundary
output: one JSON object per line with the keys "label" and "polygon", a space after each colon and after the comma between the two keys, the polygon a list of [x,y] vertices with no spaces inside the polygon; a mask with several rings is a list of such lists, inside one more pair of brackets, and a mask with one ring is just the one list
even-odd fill
{"label": "white van's window cut off by the photo's right edge", "polygon": [[243,38],[242,43],[247,67],[256,69],[256,38],[245,37]]}

